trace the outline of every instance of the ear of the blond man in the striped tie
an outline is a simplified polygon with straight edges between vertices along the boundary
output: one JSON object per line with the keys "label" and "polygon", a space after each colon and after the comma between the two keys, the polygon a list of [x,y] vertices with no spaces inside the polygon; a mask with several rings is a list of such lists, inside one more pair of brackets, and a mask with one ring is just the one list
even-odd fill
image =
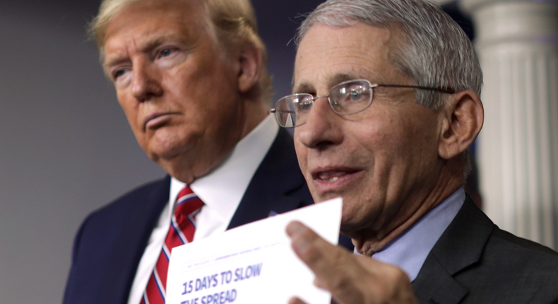
{"label": "ear of the blond man in the striped tie", "polygon": [[262,69],[261,51],[253,45],[244,47],[239,53],[238,63],[238,90],[247,93],[259,81]]}

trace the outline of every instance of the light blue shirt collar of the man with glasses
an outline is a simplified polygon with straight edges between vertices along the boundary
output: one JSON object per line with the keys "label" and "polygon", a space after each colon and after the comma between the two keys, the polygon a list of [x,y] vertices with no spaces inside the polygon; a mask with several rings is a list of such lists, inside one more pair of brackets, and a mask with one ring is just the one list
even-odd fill
{"label": "light blue shirt collar of the man with glasses", "polygon": [[465,190],[461,187],[372,257],[403,269],[410,281],[415,280],[430,250],[456,217],[464,201]]}

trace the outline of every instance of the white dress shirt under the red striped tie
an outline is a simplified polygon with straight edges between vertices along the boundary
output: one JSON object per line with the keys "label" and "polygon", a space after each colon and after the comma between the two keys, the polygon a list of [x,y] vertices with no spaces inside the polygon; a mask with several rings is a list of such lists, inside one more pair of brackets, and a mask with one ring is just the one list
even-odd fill
{"label": "white dress shirt under the red striped tie", "polygon": [[[279,126],[275,122],[275,117],[268,115],[239,141],[217,168],[189,185],[205,204],[196,216],[194,240],[227,230],[252,176],[271,148],[278,131]],[[184,182],[172,177],[169,202],[163,209],[157,226],[153,228],[146,250],[138,264],[128,304],[139,304],[141,301],[170,228],[170,218],[174,213],[174,199],[184,186]]]}

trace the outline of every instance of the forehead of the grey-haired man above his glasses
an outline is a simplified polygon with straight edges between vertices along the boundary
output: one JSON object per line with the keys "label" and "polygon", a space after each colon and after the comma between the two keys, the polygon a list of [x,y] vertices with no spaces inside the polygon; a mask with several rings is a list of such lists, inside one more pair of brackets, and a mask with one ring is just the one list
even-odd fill
{"label": "forehead of the grey-haired man above his glasses", "polygon": [[364,23],[313,25],[297,50],[295,90],[300,86],[333,86],[348,78],[366,78],[372,83],[396,81],[404,77],[391,60],[396,42],[393,30]]}

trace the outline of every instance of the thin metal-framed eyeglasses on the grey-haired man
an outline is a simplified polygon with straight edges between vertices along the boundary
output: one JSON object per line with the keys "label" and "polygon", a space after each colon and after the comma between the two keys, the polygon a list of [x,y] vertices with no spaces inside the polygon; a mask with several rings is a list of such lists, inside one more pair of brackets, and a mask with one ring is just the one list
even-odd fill
{"label": "thin metal-framed eyeglasses on the grey-haired man", "polygon": [[328,95],[314,97],[308,93],[297,93],[281,98],[272,113],[281,127],[298,127],[308,120],[312,105],[318,98],[327,97],[333,112],[339,115],[350,115],[366,110],[372,104],[374,88],[415,88],[419,90],[437,90],[443,93],[453,94],[455,90],[450,88],[429,88],[425,86],[405,86],[397,84],[372,84],[366,79],[353,79],[343,81],[333,86]]}

